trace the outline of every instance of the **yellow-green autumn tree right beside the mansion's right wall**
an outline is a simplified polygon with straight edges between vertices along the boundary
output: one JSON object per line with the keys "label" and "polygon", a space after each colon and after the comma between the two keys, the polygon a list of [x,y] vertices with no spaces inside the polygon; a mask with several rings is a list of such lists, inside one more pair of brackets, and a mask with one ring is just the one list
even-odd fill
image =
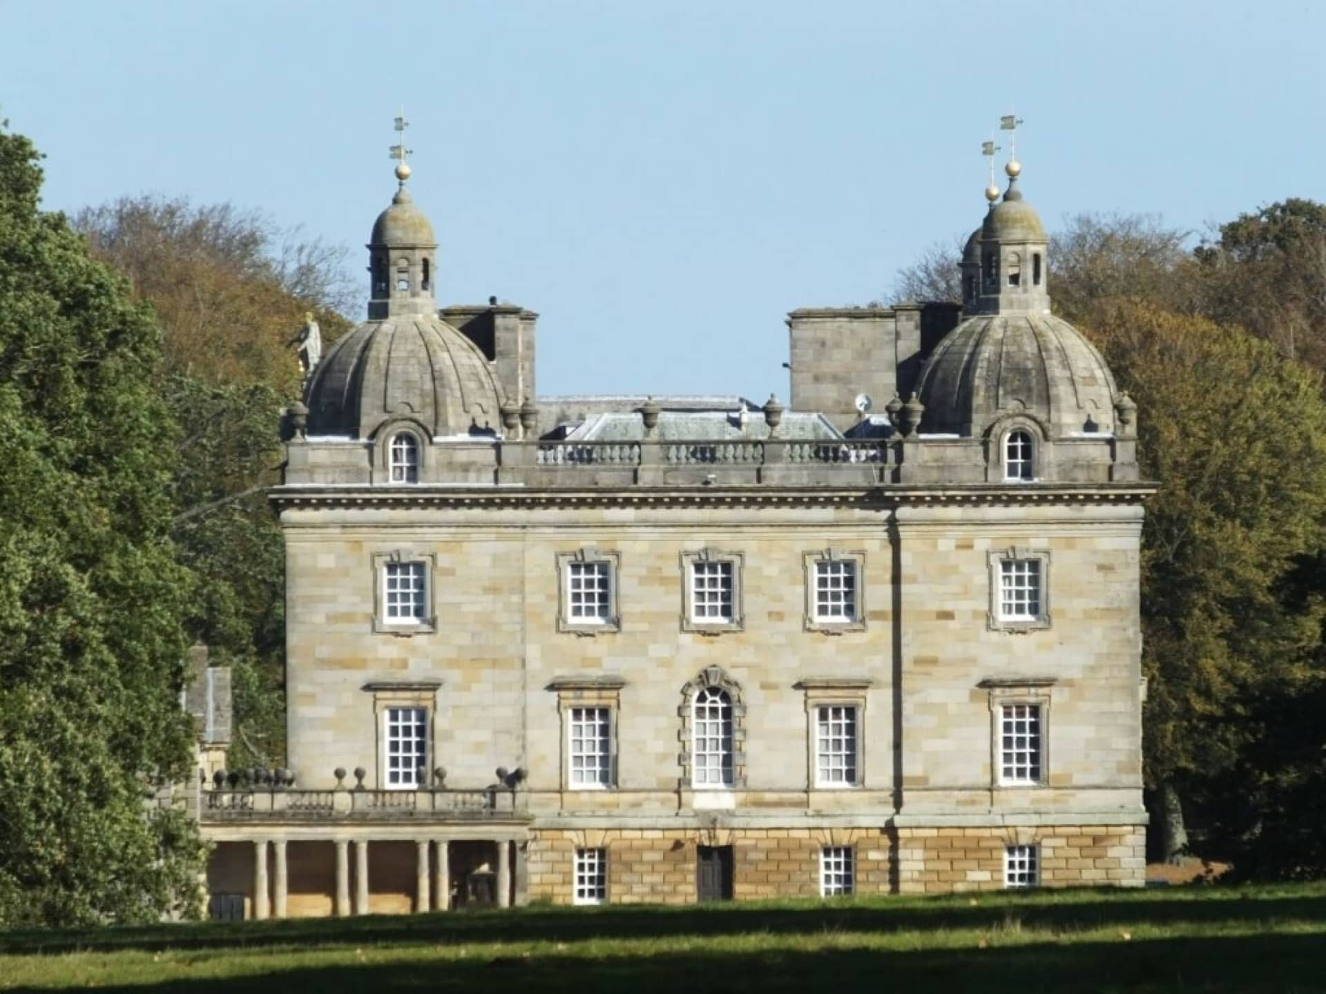
{"label": "yellow-green autumn tree right beside the mansion's right wall", "polygon": [[[1246,793],[1232,804],[1229,774],[1245,787],[1273,774],[1261,750],[1284,740],[1274,702],[1322,687],[1326,612],[1303,571],[1326,534],[1321,378],[1200,317],[1130,301],[1094,311],[1093,338],[1138,402],[1143,473],[1162,481],[1143,530],[1146,781],[1158,814],[1181,816],[1183,798],[1231,855],[1277,814]],[[1319,755],[1322,732],[1298,728]],[[1236,807],[1252,820],[1228,818]]]}

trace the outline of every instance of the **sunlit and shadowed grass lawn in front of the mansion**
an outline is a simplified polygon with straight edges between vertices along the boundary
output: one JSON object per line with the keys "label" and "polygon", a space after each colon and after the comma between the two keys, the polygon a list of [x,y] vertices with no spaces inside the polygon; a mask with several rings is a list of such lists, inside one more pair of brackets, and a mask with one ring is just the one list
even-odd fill
{"label": "sunlit and shadowed grass lawn in front of the mansion", "polygon": [[1326,991],[1326,884],[0,932],[0,990]]}

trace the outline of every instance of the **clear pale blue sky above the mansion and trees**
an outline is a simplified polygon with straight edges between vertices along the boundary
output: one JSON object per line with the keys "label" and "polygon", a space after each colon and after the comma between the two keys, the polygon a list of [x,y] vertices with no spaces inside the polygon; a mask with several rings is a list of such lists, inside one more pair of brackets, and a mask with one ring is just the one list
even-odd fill
{"label": "clear pale blue sky above the mansion and trees", "polygon": [[1326,200],[1323,37],[1311,0],[0,0],[0,115],[50,208],[229,200],[358,268],[403,105],[439,297],[537,310],[541,394],[785,398],[785,313],[973,228],[1010,107],[1052,228]]}

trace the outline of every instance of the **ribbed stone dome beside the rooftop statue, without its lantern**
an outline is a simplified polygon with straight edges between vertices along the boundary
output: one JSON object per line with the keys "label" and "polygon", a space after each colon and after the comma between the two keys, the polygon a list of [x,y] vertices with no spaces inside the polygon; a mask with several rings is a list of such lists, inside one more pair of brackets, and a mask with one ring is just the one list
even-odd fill
{"label": "ribbed stone dome beside the rooftop statue, without its lantern", "polygon": [[430,313],[355,327],[318,363],[305,404],[310,435],[366,439],[412,417],[439,437],[500,429],[501,399],[479,346]]}

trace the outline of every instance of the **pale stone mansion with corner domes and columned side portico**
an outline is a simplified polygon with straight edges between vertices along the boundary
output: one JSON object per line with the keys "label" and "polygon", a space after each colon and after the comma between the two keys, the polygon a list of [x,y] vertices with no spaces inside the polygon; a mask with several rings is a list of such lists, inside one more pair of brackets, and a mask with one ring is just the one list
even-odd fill
{"label": "pale stone mansion with corner domes and columned side portico", "polygon": [[540,396],[398,166],[288,419],[289,769],[207,770],[212,914],[1140,885],[1154,485],[1006,171],[960,306],[792,311],[757,406]]}

